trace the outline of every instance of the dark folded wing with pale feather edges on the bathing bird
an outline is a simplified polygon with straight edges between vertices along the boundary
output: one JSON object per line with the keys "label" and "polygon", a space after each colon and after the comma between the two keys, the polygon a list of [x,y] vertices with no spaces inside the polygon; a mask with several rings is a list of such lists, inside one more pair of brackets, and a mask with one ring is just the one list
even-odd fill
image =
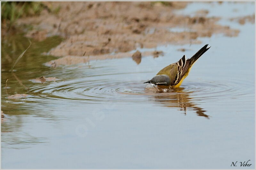
{"label": "dark folded wing with pale feather edges on the bathing bird", "polygon": [[186,60],[186,55],[183,55],[183,57],[176,64],[178,67],[178,73],[176,74],[175,79],[171,83],[172,86],[180,82],[180,80],[189,68],[190,60]]}

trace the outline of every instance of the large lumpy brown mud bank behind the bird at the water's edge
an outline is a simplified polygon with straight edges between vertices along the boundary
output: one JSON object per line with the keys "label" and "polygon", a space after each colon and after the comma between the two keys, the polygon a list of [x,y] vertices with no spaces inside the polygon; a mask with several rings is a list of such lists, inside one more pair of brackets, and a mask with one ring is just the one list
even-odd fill
{"label": "large lumpy brown mud bank behind the bird at the water's edge", "polygon": [[[164,44],[196,44],[198,37],[210,37],[224,33],[237,36],[239,30],[219,25],[220,18],[184,16],[174,13],[185,8],[188,2],[43,2],[53,8],[60,6],[56,15],[43,11],[40,16],[21,18],[20,25],[32,25],[28,36],[44,39],[61,35],[65,40],[48,54],[64,57],[51,62],[86,62],[83,56],[102,59],[109,53],[125,53],[140,48],[153,48]],[[201,13],[207,11],[201,11]],[[172,27],[188,27],[187,32],[172,32]],[[121,54],[122,55],[122,54]],[[70,59],[69,56],[72,56]],[[74,59],[74,56],[82,57]],[[98,58],[96,57],[98,56]],[[118,56],[116,58],[119,58]],[[89,59],[91,60],[91,59]]]}

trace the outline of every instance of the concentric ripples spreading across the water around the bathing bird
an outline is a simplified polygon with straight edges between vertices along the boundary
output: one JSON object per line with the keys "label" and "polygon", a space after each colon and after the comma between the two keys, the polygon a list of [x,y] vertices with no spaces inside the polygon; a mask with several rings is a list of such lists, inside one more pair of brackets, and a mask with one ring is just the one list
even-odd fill
{"label": "concentric ripples spreading across the water around the bathing bird", "polygon": [[[236,99],[240,96],[250,96],[253,83],[228,81],[228,82],[184,82],[181,88],[166,89],[147,85],[143,81],[111,82],[109,80],[84,81],[76,79],[70,81],[57,81],[48,85],[38,85],[31,88],[41,99],[69,100],[80,103],[101,102],[145,102],[148,96],[161,96],[175,98],[175,95],[188,95],[190,101],[224,101]],[[159,97],[160,96],[160,97]],[[179,96],[177,96],[179,97]],[[184,96],[183,96],[184,97]]]}

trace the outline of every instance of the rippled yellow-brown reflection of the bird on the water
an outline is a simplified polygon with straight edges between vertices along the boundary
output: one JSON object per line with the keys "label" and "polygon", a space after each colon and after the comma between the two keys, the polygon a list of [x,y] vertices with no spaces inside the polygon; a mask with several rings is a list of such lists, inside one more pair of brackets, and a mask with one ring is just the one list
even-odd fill
{"label": "rippled yellow-brown reflection of the bird on the water", "polygon": [[193,102],[193,97],[190,96],[193,91],[184,91],[184,88],[166,89],[166,87],[161,86],[146,87],[145,91],[146,93],[152,93],[152,89],[154,94],[149,97],[150,101],[160,103],[164,107],[180,108],[180,110],[184,111],[183,113],[185,115],[187,114],[187,110],[195,110],[197,116],[203,116],[209,119],[209,116],[204,113],[206,110],[198,107]]}

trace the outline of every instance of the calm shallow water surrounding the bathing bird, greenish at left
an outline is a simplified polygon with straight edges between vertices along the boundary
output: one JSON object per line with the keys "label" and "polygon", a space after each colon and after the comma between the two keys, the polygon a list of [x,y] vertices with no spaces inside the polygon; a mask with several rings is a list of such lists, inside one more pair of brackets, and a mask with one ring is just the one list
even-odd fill
{"label": "calm shallow water surrounding the bathing bird, greenish at left", "polygon": [[[238,8],[227,10],[231,17],[242,15],[244,6],[254,13],[254,3],[244,4],[208,5],[212,11],[223,10],[222,5]],[[192,3],[184,11],[197,7]],[[11,74],[13,60],[29,43],[22,36],[2,39],[1,110],[7,114],[1,125],[2,168],[230,168],[234,161],[252,163],[254,24],[225,17],[220,23],[239,29],[238,37],[217,34],[200,38],[198,45],[158,46],[164,56],[144,57],[139,65],[124,58],[49,68],[43,63],[54,57],[41,53],[60,43],[53,37],[33,42]],[[204,44],[212,47],[179,89],[145,89],[144,81]],[[41,76],[58,80],[30,81]],[[7,99],[6,92],[30,96]]]}

